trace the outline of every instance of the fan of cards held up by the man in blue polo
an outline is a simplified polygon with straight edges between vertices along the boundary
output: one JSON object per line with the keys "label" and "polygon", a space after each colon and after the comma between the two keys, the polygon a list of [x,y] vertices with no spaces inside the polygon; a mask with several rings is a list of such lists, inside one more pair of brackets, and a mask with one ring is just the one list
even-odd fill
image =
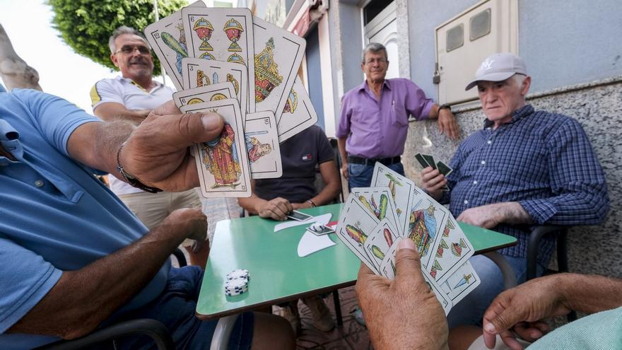
{"label": "fan of cards held up by the man in blue polo", "polygon": [[218,112],[219,139],[193,155],[204,197],[249,197],[250,180],[281,177],[279,143],[317,122],[296,73],[305,40],[248,8],[196,1],[152,23],[145,35],[184,113]]}

